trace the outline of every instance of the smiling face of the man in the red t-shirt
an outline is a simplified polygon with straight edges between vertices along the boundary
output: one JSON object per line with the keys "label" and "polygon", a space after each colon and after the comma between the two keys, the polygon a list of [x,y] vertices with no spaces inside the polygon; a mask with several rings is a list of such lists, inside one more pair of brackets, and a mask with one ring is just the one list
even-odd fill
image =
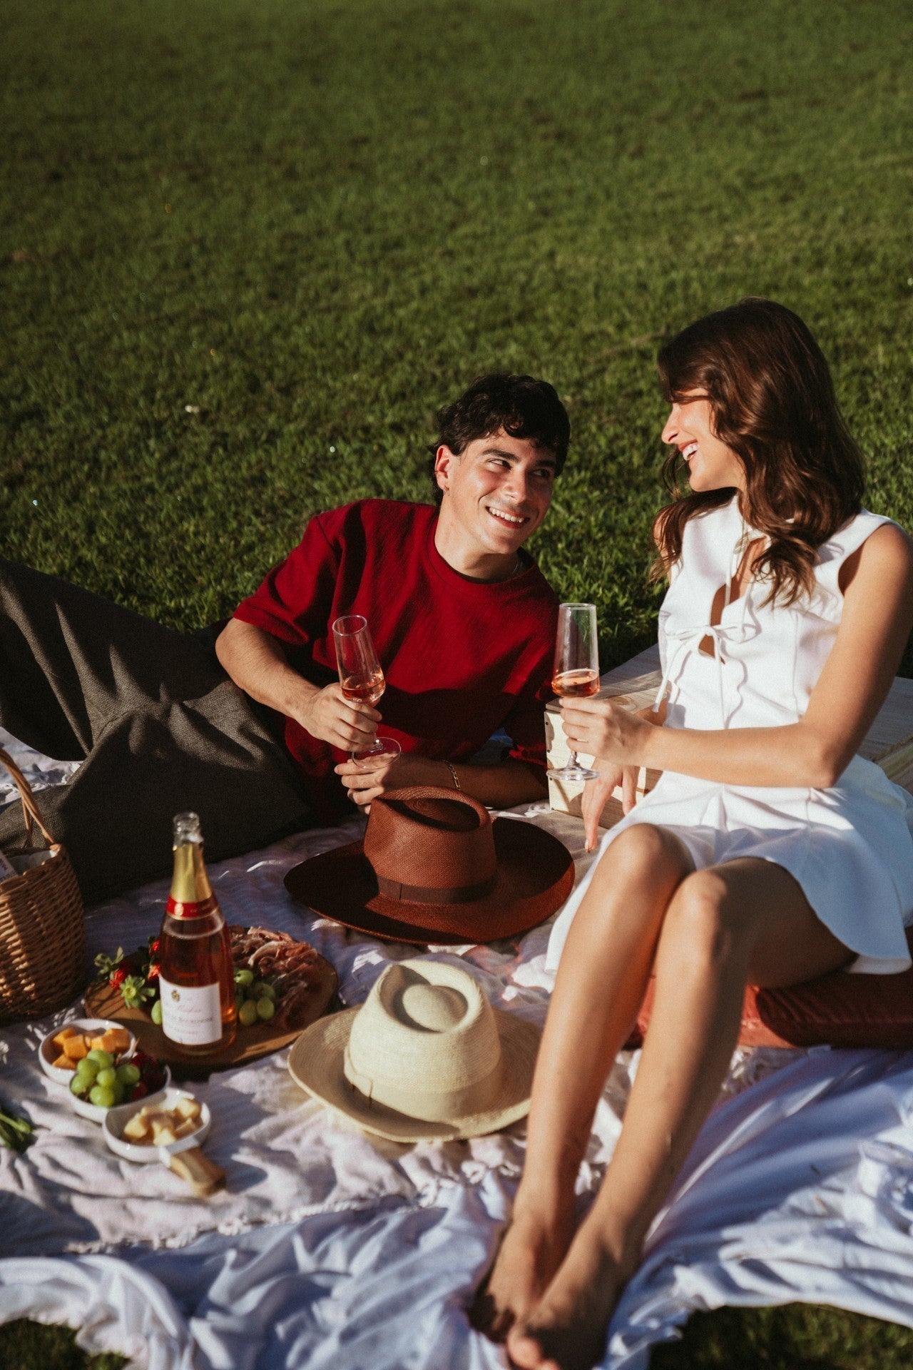
{"label": "smiling face of the man in the red t-shirt", "polygon": [[548,448],[504,430],[474,438],[459,456],[441,445],[434,463],[446,496],[441,519],[453,525],[464,553],[513,559],[548,512],[554,466]]}

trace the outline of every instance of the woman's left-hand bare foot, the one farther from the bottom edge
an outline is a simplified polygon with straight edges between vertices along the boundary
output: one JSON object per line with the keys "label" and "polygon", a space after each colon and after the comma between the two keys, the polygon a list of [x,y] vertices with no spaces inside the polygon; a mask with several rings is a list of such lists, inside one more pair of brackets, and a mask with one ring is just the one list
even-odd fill
{"label": "woman's left-hand bare foot, the one farther from the bottom edge", "polygon": [[574,1197],[549,1215],[515,1206],[487,1277],[470,1308],[470,1322],[504,1341],[515,1322],[532,1311],[561,1265],[574,1233]]}

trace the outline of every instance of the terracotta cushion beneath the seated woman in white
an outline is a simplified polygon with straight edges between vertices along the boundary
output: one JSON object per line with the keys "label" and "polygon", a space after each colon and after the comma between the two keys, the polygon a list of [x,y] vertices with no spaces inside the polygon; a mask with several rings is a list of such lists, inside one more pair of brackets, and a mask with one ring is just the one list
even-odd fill
{"label": "terracotta cushion beneath the seated woman in white", "polygon": [[[913,929],[906,934],[913,955]],[[653,1008],[650,978],[628,1047],[639,1047]],[[831,971],[803,985],[749,985],[739,1029],[742,1047],[913,1047],[913,969],[899,975]]]}

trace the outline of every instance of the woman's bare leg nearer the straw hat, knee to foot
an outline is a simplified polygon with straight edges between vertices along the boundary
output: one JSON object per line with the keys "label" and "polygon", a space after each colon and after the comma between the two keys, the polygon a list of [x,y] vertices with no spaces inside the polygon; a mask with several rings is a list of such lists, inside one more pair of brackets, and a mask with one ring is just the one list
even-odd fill
{"label": "woman's bare leg nearer the straw hat, knee to foot", "polygon": [[636,825],[604,854],[576,912],[539,1048],[513,1217],[472,1308],[493,1337],[531,1312],[564,1259],[606,1070],[635,1022],[669,899],[691,869],[676,837]]}

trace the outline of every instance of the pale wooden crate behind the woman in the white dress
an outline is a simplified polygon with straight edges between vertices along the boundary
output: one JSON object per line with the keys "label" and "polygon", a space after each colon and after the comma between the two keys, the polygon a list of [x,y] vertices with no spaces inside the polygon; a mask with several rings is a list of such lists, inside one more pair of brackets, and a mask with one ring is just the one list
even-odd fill
{"label": "pale wooden crate behind the woman in the white dress", "polygon": [[[616,666],[602,677],[597,699],[617,699],[630,708],[646,708],[653,704],[660,688],[660,649],[647,647],[645,652],[632,656],[623,666]],[[549,767],[564,766],[569,748],[564,737],[561,710],[557,700],[545,708],[545,745],[549,754]],[[898,677],[891,686],[877,718],[872,723],[860,747],[860,755],[877,762],[884,774],[913,793],[913,681]],[[580,760],[591,764],[593,758],[580,752]],[[642,799],[656,785],[658,771],[641,767],[638,777],[638,799]],[[580,782],[549,780],[549,803],[561,814],[580,817]],[[601,827],[610,827],[621,818],[621,790],[616,789],[606,800],[600,818]]]}

